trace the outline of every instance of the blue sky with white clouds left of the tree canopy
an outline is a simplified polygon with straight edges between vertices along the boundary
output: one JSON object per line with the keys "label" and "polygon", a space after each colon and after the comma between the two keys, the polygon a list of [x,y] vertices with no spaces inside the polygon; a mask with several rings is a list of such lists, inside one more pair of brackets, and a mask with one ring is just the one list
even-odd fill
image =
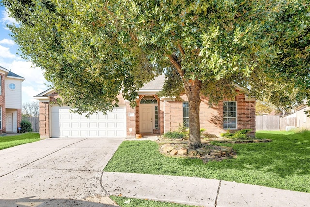
{"label": "blue sky with white clouds left of the tree canopy", "polygon": [[[48,89],[43,72],[40,68],[32,67],[32,63],[22,59],[17,53],[18,45],[10,37],[6,24],[16,23],[10,18],[5,7],[0,6],[0,66],[25,78],[22,83],[23,104],[37,101],[33,96]],[[19,52],[19,51],[18,51]]]}

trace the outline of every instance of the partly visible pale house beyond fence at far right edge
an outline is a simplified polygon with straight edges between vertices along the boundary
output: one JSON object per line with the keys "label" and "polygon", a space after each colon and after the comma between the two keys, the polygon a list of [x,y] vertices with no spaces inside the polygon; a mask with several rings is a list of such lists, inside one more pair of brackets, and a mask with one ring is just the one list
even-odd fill
{"label": "partly visible pale house beyond fence at far right edge", "polygon": [[[282,119],[287,120],[287,123],[288,123],[287,126],[289,127],[310,129],[310,117],[308,117],[307,114],[305,113],[306,111],[309,111],[309,110],[310,110],[309,106],[303,105],[303,106],[300,106],[294,109],[295,112],[290,113],[286,116],[283,116]],[[294,123],[292,122],[291,124],[289,124],[290,118],[295,119]]]}

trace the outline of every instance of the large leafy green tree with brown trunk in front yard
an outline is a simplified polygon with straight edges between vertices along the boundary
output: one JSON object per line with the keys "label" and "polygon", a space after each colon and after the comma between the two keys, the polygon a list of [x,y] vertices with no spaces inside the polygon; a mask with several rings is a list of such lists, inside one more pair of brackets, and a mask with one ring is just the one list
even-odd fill
{"label": "large leafy green tree with brown trunk in front yard", "polygon": [[189,143],[200,146],[200,94],[217,103],[238,84],[277,105],[310,100],[308,0],[2,2],[23,57],[78,112],[110,110],[119,92],[134,104],[164,73],[161,95],[188,96]]}

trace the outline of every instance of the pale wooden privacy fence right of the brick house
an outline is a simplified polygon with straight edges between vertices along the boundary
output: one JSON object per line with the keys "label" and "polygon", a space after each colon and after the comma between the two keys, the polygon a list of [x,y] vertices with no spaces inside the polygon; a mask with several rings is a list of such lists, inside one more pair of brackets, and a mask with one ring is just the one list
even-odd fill
{"label": "pale wooden privacy fence right of the brick house", "polygon": [[297,127],[296,117],[256,116],[256,131],[290,130]]}

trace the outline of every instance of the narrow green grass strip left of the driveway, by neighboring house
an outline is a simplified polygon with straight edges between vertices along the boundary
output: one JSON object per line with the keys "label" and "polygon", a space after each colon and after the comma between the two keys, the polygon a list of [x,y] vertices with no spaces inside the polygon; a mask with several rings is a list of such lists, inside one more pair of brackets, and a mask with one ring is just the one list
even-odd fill
{"label": "narrow green grass strip left of the driveway, by neighboring house", "polygon": [[39,133],[24,133],[14,136],[0,136],[0,150],[40,140]]}

